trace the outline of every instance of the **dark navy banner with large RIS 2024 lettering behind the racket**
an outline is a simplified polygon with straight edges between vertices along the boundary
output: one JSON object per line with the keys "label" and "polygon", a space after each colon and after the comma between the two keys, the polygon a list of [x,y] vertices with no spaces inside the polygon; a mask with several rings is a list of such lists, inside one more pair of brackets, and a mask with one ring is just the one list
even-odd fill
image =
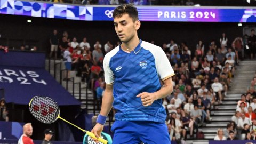
{"label": "dark navy banner with large RIS 2024 lettering behind the racket", "polygon": [[28,105],[39,95],[52,98],[60,106],[81,105],[42,67],[45,54],[33,54],[37,57],[32,57],[31,52],[0,51],[0,88],[4,89],[6,102]]}

